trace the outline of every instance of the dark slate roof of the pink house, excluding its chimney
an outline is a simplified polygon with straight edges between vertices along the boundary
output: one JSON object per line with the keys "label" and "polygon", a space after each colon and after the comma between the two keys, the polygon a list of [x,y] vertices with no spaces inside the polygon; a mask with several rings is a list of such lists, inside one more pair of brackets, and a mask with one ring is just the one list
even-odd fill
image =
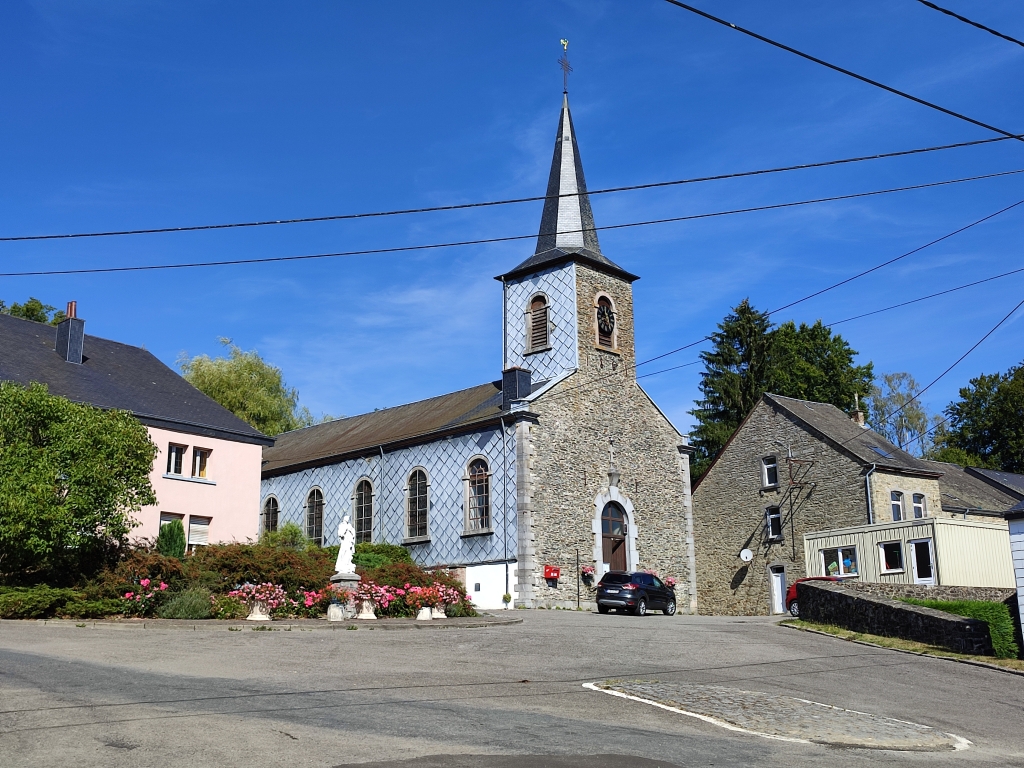
{"label": "dark slate roof of the pink house, excluding its chimney", "polygon": [[46,384],[51,394],[130,411],[148,426],[273,444],[145,349],[87,334],[83,361],[76,365],[57,354],[55,341],[53,326],[0,314],[0,381]]}

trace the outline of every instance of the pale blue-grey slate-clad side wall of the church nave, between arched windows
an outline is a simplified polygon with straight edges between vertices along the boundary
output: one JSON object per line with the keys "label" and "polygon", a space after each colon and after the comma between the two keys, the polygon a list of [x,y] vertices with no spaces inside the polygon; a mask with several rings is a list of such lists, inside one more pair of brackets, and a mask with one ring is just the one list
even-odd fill
{"label": "pale blue-grey slate-clad side wall of the church nave, between arched windows", "polygon": [[[463,477],[466,465],[476,456],[487,460],[492,472],[490,515],[495,532],[464,538]],[[268,496],[274,496],[280,505],[279,526],[294,522],[305,529],[306,497],[313,487],[318,487],[324,493],[324,544],[337,544],[341,517],[352,514],[355,484],[366,477],[373,483],[375,494],[373,541],[401,544],[406,532],[406,483],[416,467],[427,472],[430,542],[410,545],[413,559],[421,565],[433,566],[515,558],[515,435],[511,426],[504,445],[502,430],[495,428],[385,453],[383,478],[380,454],[265,478],[261,483],[260,509]]]}

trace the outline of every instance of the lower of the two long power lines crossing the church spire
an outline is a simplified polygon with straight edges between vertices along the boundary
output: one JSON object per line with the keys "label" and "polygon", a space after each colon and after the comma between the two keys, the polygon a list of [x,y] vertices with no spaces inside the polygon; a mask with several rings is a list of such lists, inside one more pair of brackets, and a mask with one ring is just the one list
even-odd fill
{"label": "lower of the two long power lines crossing the church spire", "polygon": [[[697,219],[715,218],[717,216],[732,216],[740,213],[756,213],[759,211],[773,211],[783,208],[795,208],[798,206],[814,205],[817,203],[834,203],[840,200],[855,200],[858,198],[870,198],[879,195],[889,195],[892,193],[899,191],[910,191],[913,189],[927,189],[934,186],[947,186],[949,184],[959,184],[967,181],[979,181],[982,179],[997,178],[1000,176],[1013,176],[1018,173],[1024,173],[1024,168],[1019,168],[1013,171],[999,171],[998,173],[985,173],[978,176],[966,176],[964,178],[957,179],[946,179],[943,181],[930,181],[924,184],[910,184],[908,186],[895,186],[888,189],[874,189],[866,193],[852,193],[850,195],[836,195],[828,198],[814,198],[812,200],[800,200],[791,203],[774,203],[765,206],[753,206],[750,208],[734,208],[728,211],[713,211],[710,213],[694,213],[686,216],[671,216],[668,218],[660,219],[648,219],[646,221],[632,221],[624,224],[605,224],[603,226],[593,226],[585,227],[581,229],[566,229],[563,231],[556,232],[556,234],[571,234],[577,232],[586,231],[598,231],[598,230],[611,230],[611,229],[627,229],[637,226],[649,226],[652,224],[669,224],[680,221],[695,221]],[[1024,201],[1021,201],[1024,202]],[[1014,205],[1020,205],[1015,203]],[[1013,206],[1011,206],[1013,208]],[[1007,209],[1009,210],[1009,209]],[[998,213],[1001,213],[999,211]],[[992,214],[993,216],[998,215],[998,213]],[[991,218],[991,216],[986,217]],[[984,220],[984,219],[983,219]],[[978,222],[975,222],[978,223]],[[969,226],[973,226],[971,224]],[[969,228],[969,227],[966,227]],[[955,234],[955,232],[953,232]],[[402,253],[409,251],[425,251],[433,250],[438,248],[458,248],[463,246],[478,246],[487,245],[494,243],[509,243],[517,240],[532,240],[537,234],[511,234],[504,238],[483,238],[480,240],[463,240],[454,241],[450,243],[429,243],[418,246],[395,246],[392,248],[371,248],[361,251],[336,251],[333,253],[315,253],[315,254],[304,254],[300,256],[266,256],[262,258],[252,258],[252,259],[226,259],[223,261],[193,261],[184,263],[175,264],[142,264],[138,266],[109,266],[109,267],[92,267],[92,268],[81,268],[81,269],[38,269],[24,272],[0,272],[0,278],[29,278],[29,276],[54,276],[61,274],[104,274],[112,272],[140,272],[140,271],[153,271],[158,269],[193,269],[198,267],[207,266],[238,266],[240,264],[268,264],[274,262],[284,261],[308,261],[313,259],[329,259],[347,256],[374,256],[389,253]],[[946,236],[951,237],[951,236]],[[931,245],[931,244],[929,244]],[[927,248],[927,246],[923,246]],[[920,250],[920,249],[919,249]],[[908,255],[908,254],[907,254]],[[856,275],[860,276],[860,275]],[[856,278],[855,276],[855,278]],[[850,280],[855,280],[851,278]],[[825,289],[829,290],[829,289]],[[785,308],[785,307],[780,307]]]}

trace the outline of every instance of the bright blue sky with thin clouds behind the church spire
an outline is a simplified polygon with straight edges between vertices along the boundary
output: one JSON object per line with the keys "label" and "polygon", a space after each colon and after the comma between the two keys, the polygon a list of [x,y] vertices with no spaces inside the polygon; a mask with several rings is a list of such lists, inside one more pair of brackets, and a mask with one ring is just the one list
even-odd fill
{"label": "bright blue sky with thin clouds behind the church spire", "polygon": [[[1024,37],[1013,0],[947,5]],[[1024,131],[1024,48],[913,0],[705,2],[795,47]],[[8,0],[0,6],[0,234],[331,215],[544,193],[568,38],[591,188],[987,138],[989,133],[659,0],[517,3]],[[607,225],[1024,168],[1006,141],[593,199]],[[771,309],[1024,199],[1024,174],[602,232],[641,275],[646,359],[744,297]],[[2,271],[348,251],[537,231],[541,206],[218,232],[0,244]],[[1024,206],[774,317],[828,323],[1024,266]],[[86,330],[168,365],[218,337],[280,366],[314,413],[353,415],[500,376],[494,275],[531,241],[203,269],[0,279],[79,302]],[[926,383],[1020,300],[1024,274],[837,327]],[[925,396],[1022,359],[1005,325]],[[640,369],[696,359],[694,350]],[[644,387],[683,429],[699,367]]]}

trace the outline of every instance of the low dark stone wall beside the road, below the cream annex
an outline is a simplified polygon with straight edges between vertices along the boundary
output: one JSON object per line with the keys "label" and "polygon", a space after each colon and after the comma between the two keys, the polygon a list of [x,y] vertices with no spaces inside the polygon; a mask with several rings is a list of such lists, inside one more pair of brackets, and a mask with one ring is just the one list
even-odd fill
{"label": "low dark stone wall beside the road, below the cream annex", "polygon": [[800,617],[853,632],[915,640],[957,653],[992,655],[988,625],[941,610],[897,602],[833,582],[797,585]]}

